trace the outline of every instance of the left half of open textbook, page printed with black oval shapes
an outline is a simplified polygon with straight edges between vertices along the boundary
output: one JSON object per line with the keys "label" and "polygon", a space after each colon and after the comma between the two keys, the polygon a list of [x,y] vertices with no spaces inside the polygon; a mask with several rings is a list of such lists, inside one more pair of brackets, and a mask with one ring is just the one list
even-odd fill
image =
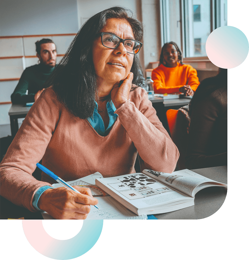
{"label": "left half of open textbook, page printed with black oval shapes", "polygon": [[[143,173],[96,179],[96,185],[136,213],[157,214],[193,205],[193,198]],[[116,196],[117,195],[117,196]],[[152,211],[151,213],[149,213]]]}

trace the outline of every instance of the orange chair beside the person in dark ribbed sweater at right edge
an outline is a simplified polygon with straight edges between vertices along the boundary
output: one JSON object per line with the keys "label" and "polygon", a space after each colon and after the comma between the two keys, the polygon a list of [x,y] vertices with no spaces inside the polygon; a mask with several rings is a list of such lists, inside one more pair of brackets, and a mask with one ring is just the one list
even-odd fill
{"label": "orange chair beside the person in dark ribbed sweater at right edge", "polygon": [[178,113],[178,110],[175,109],[167,110],[166,117],[171,139],[176,144],[180,153],[177,164],[180,170],[186,169],[185,156],[188,138],[186,118],[181,112]]}

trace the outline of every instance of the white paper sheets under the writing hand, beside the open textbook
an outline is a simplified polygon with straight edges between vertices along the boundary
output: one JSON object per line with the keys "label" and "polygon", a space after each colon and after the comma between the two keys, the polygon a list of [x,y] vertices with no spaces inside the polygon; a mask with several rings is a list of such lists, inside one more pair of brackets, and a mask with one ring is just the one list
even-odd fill
{"label": "white paper sheets under the writing hand, beside the open textbook", "polygon": [[[103,178],[101,173],[96,172],[92,175],[83,177],[78,180],[69,181],[68,183],[72,186],[74,185],[84,185],[88,186],[95,185],[95,179],[96,178]],[[79,184],[76,184],[79,183]],[[53,187],[62,187],[59,183],[53,184]],[[98,190],[92,189],[92,194],[94,196],[94,192],[96,191],[96,194],[98,194]],[[108,194],[104,194],[101,197],[97,198],[99,203],[97,206],[100,208],[97,209],[95,207],[91,207],[91,211],[87,216],[87,219],[147,219],[147,215],[143,216],[137,216],[134,212],[130,211],[126,207],[124,207],[122,204],[117,202],[114,198],[110,197]],[[54,219],[51,217],[47,212],[41,212],[42,217],[44,219]]]}

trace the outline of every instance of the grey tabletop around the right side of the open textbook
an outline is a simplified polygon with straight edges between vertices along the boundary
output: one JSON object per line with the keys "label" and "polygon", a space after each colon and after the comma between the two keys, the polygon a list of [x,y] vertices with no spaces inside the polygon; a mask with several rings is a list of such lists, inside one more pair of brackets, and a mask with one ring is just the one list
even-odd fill
{"label": "grey tabletop around the right side of the open textbook", "polygon": [[[192,171],[209,179],[227,184],[227,166],[210,167]],[[155,214],[154,216],[157,217],[157,219],[204,219],[212,216],[218,210],[226,214],[227,208],[226,203],[224,203],[226,196],[227,189],[224,187],[205,188],[195,195],[194,206],[164,214]],[[220,215],[219,213],[217,212],[217,216],[223,216],[223,214]]]}

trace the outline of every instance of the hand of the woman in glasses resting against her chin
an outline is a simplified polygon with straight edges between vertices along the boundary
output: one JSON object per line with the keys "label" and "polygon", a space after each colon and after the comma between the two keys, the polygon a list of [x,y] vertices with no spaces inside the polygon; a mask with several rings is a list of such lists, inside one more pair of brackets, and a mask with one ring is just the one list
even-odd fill
{"label": "hand of the woman in glasses resting against her chin", "polygon": [[129,92],[132,86],[133,73],[129,72],[127,78],[123,81],[121,86],[119,87],[120,82],[114,84],[111,90],[111,100],[118,109],[123,103],[125,103],[129,99]]}

